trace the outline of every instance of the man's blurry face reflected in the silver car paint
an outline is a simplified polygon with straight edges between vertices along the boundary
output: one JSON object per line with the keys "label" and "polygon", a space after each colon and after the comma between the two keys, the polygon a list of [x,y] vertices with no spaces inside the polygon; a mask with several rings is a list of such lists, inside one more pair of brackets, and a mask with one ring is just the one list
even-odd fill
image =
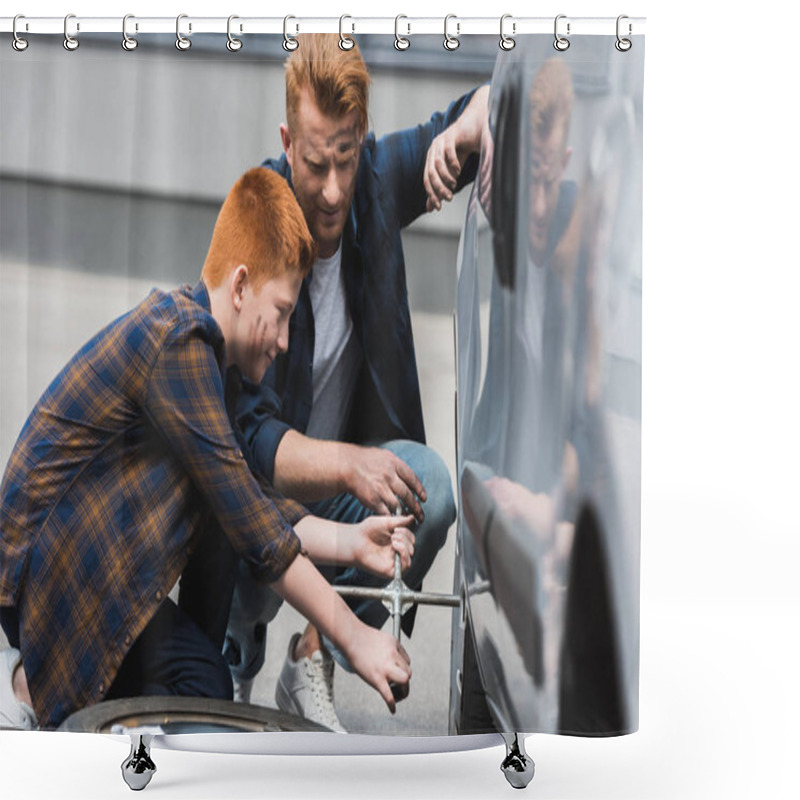
{"label": "man's blurry face reflected in the silver car paint", "polygon": [[554,126],[550,136],[531,135],[530,150],[530,213],[528,241],[534,260],[542,265],[547,252],[550,224],[558,205],[561,179],[569,161],[561,126]]}

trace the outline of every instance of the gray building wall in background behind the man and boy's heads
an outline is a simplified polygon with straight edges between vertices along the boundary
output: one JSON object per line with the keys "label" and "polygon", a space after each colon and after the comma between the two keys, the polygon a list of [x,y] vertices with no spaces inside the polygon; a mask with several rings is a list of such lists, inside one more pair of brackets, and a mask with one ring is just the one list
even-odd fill
{"label": "gray building wall in background behind the man and boy's heads", "polygon": [[[58,37],[22,54],[3,48],[3,257],[193,281],[230,186],[280,153],[278,41],[248,47],[249,57],[221,42],[178,53],[171,37],[134,53],[116,38],[79,53]],[[491,61],[483,64],[488,74]],[[378,135],[417,124],[481,80],[379,64],[372,74]],[[466,194],[408,232],[410,295],[423,310],[452,308]]]}

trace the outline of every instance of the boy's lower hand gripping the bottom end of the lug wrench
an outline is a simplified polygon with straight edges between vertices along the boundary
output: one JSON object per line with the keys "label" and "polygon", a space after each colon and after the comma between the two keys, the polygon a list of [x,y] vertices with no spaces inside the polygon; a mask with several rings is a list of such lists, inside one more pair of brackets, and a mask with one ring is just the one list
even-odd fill
{"label": "boy's lower hand gripping the bottom end of the lug wrench", "polygon": [[411,680],[411,659],[403,645],[391,634],[360,625],[358,633],[348,642],[345,655],[353,669],[377,690],[389,711],[395,713],[395,698],[389,683],[403,687],[401,696],[408,694]]}

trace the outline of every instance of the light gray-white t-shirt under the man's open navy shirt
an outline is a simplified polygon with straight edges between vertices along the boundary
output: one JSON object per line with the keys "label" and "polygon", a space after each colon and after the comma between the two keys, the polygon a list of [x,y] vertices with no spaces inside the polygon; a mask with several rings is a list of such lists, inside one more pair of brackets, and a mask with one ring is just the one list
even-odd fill
{"label": "light gray-white t-shirt under the man's open navy shirt", "polygon": [[318,258],[309,286],[314,313],[314,400],[306,434],[340,439],[344,433],[361,362],[342,273],[342,243],[330,258]]}

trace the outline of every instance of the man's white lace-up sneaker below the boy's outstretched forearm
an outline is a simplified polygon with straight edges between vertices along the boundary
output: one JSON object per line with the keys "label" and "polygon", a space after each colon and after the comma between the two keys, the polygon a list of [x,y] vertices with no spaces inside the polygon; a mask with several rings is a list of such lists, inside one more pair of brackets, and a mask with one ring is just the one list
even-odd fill
{"label": "man's white lace-up sneaker below the boy's outstretched forearm", "polygon": [[311,658],[292,657],[300,639],[296,633],[289,642],[289,652],[275,687],[275,702],[281,711],[298,714],[326,728],[346,733],[333,705],[333,658],[317,650]]}

